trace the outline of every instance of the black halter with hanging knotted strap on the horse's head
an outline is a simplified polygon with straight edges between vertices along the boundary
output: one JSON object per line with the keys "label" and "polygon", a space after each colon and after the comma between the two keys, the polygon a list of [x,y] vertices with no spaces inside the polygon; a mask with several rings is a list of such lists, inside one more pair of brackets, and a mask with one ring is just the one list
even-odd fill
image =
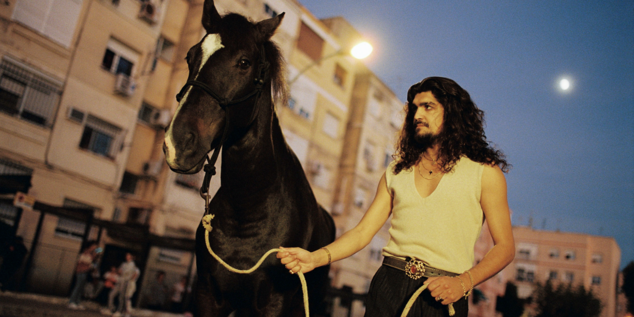
{"label": "black halter with hanging knotted strap on the horse's head", "polygon": [[[216,160],[218,159],[220,148],[223,146],[223,143],[227,138],[227,132],[229,127],[229,112],[227,111],[226,108],[230,105],[235,105],[236,103],[241,103],[242,101],[246,101],[249,98],[256,95],[257,95],[256,97],[259,98],[262,94],[264,82],[266,81],[266,79],[268,79],[269,66],[270,66],[269,62],[266,61],[266,52],[264,51],[264,45],[262,45],[260,48],[260,63],[258,65],[257,77],[255,79],[256,87],[254,87],[254,89],[250,93],[245,94],[245,96],[242,96],[242,98],[228,100],[226,98],[219,96],[219,94],[217,94],[213,89],[211,89],[209,85],[205,84],[204,82],[195,81],[195,80],[186,82],[184,86],[181,88],[181,91],[179,91],[179,93],[176,94],[176,101],[180,103],[181,99],[183,98],[185,94],[185,91],[187,90],[189,86],[198,87],[202,89],[203,91],[205,91],[205,93],[209,94],[209,96],[214,98],[216,101],[218,101],[218,104],[224,110],[225,120],[224,120],[223,136],[220,139],[220,142],[218,143],[218,145],[216,145],[216,148],[214,148],[214,153],[211,155],[211,158],[209,158],[207,154],[205,154],[205,157],[207,158],[207,164],[205,164],[205,166],[203,167],[203,170],[205,171],[205,178],[203,179],[202,186],[200,186],[200,197],[205,199],[205,214],[209,212],[209,183],[211,181],[211,177],[216,175],[216,166],[215,166]],[[253,120],[255,119],[255,116],[254,116],[256,112],[255,110],[256,110],[256,106],[254,103],[254,107],[251,110],[249,124],[251,124],[251,122],[253,122]]]}

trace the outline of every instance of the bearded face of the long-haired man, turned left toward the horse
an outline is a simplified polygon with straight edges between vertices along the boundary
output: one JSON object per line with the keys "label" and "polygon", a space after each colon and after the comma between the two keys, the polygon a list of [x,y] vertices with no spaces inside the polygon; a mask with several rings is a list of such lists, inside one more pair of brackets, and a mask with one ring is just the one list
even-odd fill
{"label": "bearded face of the long-haired man, turned left toward the horse", "polygon": [[431,91],[424,91],[414,96],[413,104],[417,107],[414,114],[416,138],[434,138],[443,129],[444,108]]}

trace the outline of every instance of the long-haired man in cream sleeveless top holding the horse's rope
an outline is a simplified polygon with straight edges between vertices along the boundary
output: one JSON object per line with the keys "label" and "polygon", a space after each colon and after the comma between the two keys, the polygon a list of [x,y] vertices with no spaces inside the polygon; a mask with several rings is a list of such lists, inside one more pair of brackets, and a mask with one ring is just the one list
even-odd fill
{"label": "long-haired man in cream sleeveless top holding the horse's rope", "polygon": [[[489,146],[482,117],[455,81],[429,77],[410,87],[396,160],[353,230],[314,252],[283,248],[290,273],[306,273],[363,249],[392,215],[383,266],[368,291],[366,317],[400,316],[418,288],[429,291],[409,316],[467,316],[467,295],[515,254],[503,171],[510,165]],[[495,246],[474,263],[474,244],[486,218]]]}

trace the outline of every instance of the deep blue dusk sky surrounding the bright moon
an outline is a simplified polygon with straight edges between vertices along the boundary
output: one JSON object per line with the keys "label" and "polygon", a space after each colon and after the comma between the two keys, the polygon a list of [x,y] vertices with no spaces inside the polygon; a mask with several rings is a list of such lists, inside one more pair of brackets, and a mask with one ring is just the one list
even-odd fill
{"label": "deep blue dusk sky surrounding the bright moon", "polygon": [[429,76],[469,91],[514,165],[513,224],[613,236],[634,261],[634,1],[300,2],[361,32],[401,100]]}

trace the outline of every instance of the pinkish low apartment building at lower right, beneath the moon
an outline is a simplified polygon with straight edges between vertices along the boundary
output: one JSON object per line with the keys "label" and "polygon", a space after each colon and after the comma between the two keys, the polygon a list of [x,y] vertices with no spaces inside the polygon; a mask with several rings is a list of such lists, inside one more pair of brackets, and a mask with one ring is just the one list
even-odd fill
{"label": "pinkish low apartment building at lower right, beneath the moon", "polygon": [[530,297],[535,283],[583,285],[601,300],[602,317],[615,316],[621,249],[614,238],[515,226],[512,280],[518,296]]}

